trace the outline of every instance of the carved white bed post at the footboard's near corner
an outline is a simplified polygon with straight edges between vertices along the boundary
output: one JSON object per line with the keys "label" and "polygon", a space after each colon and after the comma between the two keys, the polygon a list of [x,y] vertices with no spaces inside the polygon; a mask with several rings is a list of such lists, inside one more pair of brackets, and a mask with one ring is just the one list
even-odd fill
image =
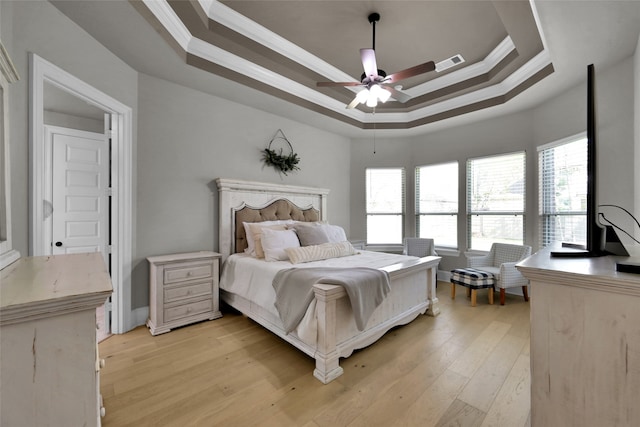
{"label": "carved white bed post at the footboard's near corner", "polygon": [[336,349],[336,301],[345,295],[345,291],[342,286],[316,284],[313,292],[318,316],[318,348],[313,376],[327,384],[344,372]]}

